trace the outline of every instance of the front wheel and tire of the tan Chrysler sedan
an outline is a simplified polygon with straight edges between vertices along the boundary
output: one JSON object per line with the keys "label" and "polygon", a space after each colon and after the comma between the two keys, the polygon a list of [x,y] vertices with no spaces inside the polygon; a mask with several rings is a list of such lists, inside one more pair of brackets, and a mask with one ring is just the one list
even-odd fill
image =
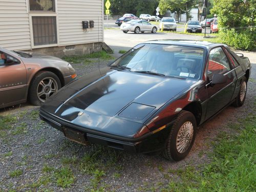
{"label": "front wheel and tire of the tan Chrysler sedan", "polygon": [[41,105],[61,88],[57,75],[50,71],[40,71],[30,83],[28,99],[31,104]]}

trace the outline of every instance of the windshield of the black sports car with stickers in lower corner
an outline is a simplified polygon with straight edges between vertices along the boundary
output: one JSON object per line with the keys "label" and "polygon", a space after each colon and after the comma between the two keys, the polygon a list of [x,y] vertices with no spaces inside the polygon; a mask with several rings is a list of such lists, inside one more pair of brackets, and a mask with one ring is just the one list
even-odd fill
{"label": "windshield of the black sports car with stickers in lower corner", "polygon": [[177,45],[140,44],[110,67],[175,78],[199,78],[204,50]]}

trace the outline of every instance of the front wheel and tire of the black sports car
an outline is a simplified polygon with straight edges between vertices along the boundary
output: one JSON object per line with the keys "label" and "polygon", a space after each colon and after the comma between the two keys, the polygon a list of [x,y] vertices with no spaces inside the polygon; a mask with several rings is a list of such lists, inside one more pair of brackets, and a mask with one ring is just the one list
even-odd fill
{"label": "front wheel and tire of the black sports car", "polygon": [[184,159],[195,141],[196,128],[195,116],[188,111],[181,111],[166,140],[162,156],[174,161]]}

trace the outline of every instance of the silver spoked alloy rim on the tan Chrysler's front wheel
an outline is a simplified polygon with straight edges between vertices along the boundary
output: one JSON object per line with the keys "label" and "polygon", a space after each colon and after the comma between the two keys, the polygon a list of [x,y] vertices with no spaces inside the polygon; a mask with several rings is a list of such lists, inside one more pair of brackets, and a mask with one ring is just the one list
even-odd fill
{"label": "silver spoked alloy rim on the tan Chrysler's front wheel", "polygon": [[51,97],[58,90],[58,83],[52,77],[42,79],[37,86],[37,97],[41,102]]}

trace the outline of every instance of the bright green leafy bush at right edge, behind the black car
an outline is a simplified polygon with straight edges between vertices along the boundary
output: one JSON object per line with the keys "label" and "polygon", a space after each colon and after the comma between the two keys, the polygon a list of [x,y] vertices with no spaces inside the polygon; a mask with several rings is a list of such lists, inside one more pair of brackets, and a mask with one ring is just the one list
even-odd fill
{"label": "bright green leafy bush at right edge, behind the black car", "polygon": [[220,32],[223,44],[227,44],[234,49],[252,51],[256,47],[256,35],[252,29],[236,31],[235,29],[223,29]]}

